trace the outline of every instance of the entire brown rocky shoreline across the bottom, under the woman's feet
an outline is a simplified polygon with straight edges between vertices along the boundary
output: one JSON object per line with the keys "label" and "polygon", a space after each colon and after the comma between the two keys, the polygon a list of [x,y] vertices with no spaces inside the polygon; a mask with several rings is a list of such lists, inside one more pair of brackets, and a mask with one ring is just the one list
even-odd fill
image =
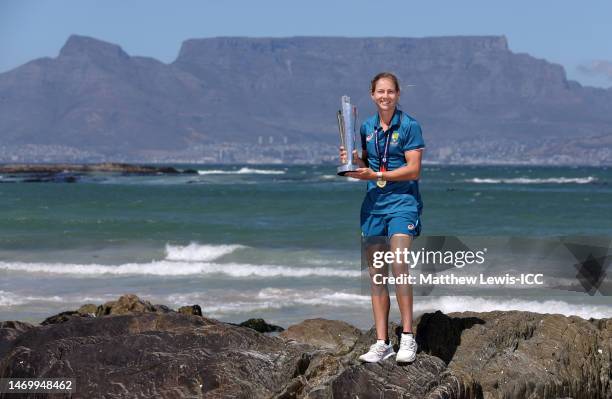
{"label": "entire brown rocky shoreline across the bottom, under the woman's feet", "polygon": [[325,319],[235,325],[198,305],[175,311],[124,295],[40,325],[0,322],[0,377],[75,378],[76,393],[53,396],[72,398],[612,397],[610,318],[438,311],[414,328],[413,363],[361,364],[373,329]]}

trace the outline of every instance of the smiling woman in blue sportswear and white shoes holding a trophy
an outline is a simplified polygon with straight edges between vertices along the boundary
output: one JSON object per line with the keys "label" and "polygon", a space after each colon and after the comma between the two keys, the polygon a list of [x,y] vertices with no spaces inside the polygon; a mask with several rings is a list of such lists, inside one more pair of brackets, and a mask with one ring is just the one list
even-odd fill
{"label": "smiling woman in blue sportswear and white shoes holding a trophy", "polygon": [[[389,291],[386,284],[380,284],[380,274],[388,275],[387,266],[374,268],[371,260],[376,251],[388,248],[393,252],[397,249],[403,252],[409,249],[412,239],[420,233],[422,202],[418,179],[425,144],[418,122],[397,108],[400,87],[395,75],[379,73],[372,79],[370,91],[378,112],[361,125],[362,155],[359,157],[357,151],[353,152],[359,169],[347,173],[347,176],[368,180],[367,194],[361,207],[361,234],[366,239],[370,258],[377,341],[359,359],[378,362],[393,356],[395,352],[387,331]],[[346,160],[343,147],[340,147],[340,158]],[[386,243],[373,244],[371,239],[374,237],[386,237]],[[394,262],[392,269],[395,277],[408,275],[406,264]],[[379,278],[374,278],[376,275]],[[396,361],[412,362],[417,351],[412,333],[412,287],[409,284],[396,284],[395,294],[403,325]]]}

